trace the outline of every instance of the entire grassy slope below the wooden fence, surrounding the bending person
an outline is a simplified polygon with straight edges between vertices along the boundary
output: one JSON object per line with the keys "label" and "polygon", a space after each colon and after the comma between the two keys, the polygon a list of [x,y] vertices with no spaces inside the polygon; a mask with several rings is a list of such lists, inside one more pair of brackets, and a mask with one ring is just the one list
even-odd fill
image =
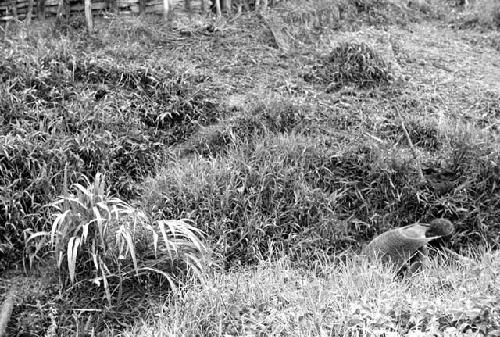
{"label": "entire grassy slope below the wooden fence, surrounding the bending person", "polygon": [[[403,283],[354,257],[388,228],[441,216],[457,231],[438,247],[500,240],[497,32],[453,30],[465,16],[415,4],[112,18],[92,35],[79,19],[11,25],[0,48],[0,268],[20,269],[20,257],[56,266],[37,295],[45,304],[23,298],[11,331],[498,330],[467,311],[498,314],[486,262],[496,253],[438,258]],[[193,258],[202,244],[205,262]]]}

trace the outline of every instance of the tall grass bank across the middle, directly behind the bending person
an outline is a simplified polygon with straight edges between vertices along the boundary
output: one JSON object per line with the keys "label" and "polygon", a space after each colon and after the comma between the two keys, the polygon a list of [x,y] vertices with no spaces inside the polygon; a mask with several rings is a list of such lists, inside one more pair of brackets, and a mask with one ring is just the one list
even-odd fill
{"label": "tall grass bank across the middle, directly behind the bending person", "polygon": [[407,146],[363,134],[334,139],[266,126],[219,155],[172,161],[145,184],[143,203],[158,217],[202,224],[228,265],[273,249],[306,259],[359,247],[392,226],[441,216],[456,224],[456,249],[495,245],[498,149],[465,130],[445,134],[417,120],[409,127],[419,162]]}

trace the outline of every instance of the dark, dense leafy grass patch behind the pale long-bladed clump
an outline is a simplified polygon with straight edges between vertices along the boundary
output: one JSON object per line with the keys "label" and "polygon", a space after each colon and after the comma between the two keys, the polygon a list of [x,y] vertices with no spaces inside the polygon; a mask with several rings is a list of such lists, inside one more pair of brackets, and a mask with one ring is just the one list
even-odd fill
{"label": "dark, dense leafy grass patch behind the pale long-bladed clump", "polygon": [[168,145],[223,113],[198,87],[207,77],[171,64],[120,66],[120,56],[92,54],[98,39],[71,31],[79,41],[71,43],[41,29],[20,44],[7,40],[16,47],[0,65],[8,255],[22,249],[18,231],[46,226],[44,205],[62,193],[65,169],[69,183],[106,172],[111,191],[132,198],[134,184],[169,156]]}

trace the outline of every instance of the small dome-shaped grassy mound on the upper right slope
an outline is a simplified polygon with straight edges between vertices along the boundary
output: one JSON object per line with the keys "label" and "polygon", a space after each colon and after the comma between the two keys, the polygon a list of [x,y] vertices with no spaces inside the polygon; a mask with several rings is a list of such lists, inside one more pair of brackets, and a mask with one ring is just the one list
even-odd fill
{"label": "small dome-shaped grassy mound on the upper right slope", "polygon": [[304,79],[326,84],[328,90],[347,85],[373,88],[394,79],[390,63],[365,43],[343,42],[330,55],[312,67]]}

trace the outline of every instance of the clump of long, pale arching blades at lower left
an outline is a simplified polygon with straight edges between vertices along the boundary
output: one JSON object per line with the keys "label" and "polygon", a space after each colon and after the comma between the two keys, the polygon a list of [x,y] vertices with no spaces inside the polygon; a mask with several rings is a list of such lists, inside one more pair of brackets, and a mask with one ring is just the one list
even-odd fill
{"label": "clump of long, pale arching blades at lower left", "polygon": [[[64,285],[93,281],[90,287],[102,286],[111,305],[116,289],[121,293],[124,282],[140,276],[160,276],[170,288],[185,276],[203,278],[207,249],[200,230],[182,220],[150,222],[143,212],[110,196],[101,174],[85,185],[73,184],[72,193],[52,203],[51,230],[31,233],[27,240],[51,248]],[[42,250],[31,251],[33,261]]]}

